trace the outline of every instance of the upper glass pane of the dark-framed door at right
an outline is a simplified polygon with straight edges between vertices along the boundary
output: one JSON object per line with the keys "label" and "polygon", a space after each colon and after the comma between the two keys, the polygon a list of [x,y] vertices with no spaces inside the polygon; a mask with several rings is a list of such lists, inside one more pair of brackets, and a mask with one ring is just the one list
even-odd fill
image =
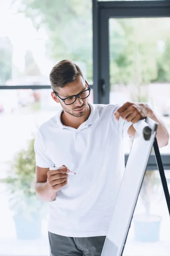
{"label": "upper glass pane of the dark-framed door at right", "polygon": [[147,102],[170,131],[170,18],[111,18],[109,44],[110,103]]}

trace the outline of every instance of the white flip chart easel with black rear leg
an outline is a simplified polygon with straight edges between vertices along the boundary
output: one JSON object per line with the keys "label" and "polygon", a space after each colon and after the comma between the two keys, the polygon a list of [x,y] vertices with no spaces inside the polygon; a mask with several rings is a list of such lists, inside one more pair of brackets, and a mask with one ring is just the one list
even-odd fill
{"label": "white flip chart easel with black rear leg", "polygon": [[116,198],[102,256],[122,256],[152,148],[155,151],[156,163],[170,215],[170,193],[156,140],[158,123],[146,118],[145,121],[140,120],[133,126],[137,132]]}

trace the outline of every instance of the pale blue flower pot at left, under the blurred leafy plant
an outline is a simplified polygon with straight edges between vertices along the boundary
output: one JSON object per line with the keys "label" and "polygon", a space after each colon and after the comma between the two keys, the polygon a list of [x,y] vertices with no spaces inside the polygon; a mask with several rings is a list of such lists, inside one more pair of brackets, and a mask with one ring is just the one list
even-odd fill
{"label": "pale blue flower pot at left, under the blurred leafy plant", "polygon": [[32,240],[41,237],[41,218],[39,214],[31,214],[26,218],[23,214],[13,216],[17,239]]}

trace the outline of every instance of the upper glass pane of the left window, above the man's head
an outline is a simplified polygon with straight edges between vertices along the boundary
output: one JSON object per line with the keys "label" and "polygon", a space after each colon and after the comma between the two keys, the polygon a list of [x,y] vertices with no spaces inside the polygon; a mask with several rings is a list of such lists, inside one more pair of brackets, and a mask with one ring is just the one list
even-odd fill
{"label": "upper glass pane of the left window, above the man's head", "polygon": [[46,4],[0,1],[0,84],[49,84],[51,68],[63,59],[72,59],[93,83],[91,1]]}

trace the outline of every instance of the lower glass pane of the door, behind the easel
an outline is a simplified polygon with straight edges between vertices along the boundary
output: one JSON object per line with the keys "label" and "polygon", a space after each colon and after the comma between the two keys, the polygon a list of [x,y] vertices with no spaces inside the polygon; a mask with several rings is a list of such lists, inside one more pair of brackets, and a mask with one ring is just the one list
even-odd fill
{"label": "lower glass pane of the door, behind the easel", "polygon": [[[137,170],[136,170],[137,171]],[[165,171],[170,191],[170,170]],[[169,256],[170,215],[158,171],[147,171],[123,256]]]}

